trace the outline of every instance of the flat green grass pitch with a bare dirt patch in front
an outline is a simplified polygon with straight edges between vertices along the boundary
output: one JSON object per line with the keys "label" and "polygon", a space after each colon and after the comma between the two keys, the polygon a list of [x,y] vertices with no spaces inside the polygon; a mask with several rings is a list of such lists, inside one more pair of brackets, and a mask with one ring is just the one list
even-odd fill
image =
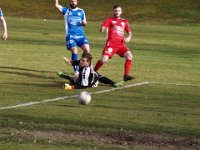
{"label": "flat green grass pitch with a bare dirt patch in front", "polygon": [[[0,107],[81,91],[64,91],[66,81],[56,76],[57,71],[73,73],[62,59],[70,57],[63,20],[7,18],[7,22],[9,39],[0,41]],[[94,64],[105,44],[99,24],[91,21],[86,27]],[[0,110],[0,149],[198,148],[199,25],[131,23],[131,28],[128,47],[134,54],[131,73],[136,80],[126,84],[150,84],[92,95],[86,106],[69,98]],[[100,71],[121,81],[123,65],[124,60],[115,56]],[[100,84],[87,91],[110,88]]]}

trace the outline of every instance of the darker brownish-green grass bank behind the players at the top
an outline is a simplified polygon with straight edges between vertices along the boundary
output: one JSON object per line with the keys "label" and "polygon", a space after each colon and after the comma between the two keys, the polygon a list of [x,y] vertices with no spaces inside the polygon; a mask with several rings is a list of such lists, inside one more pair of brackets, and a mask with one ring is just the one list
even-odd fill
{"label": "darker brownish-green grass bank behind the players at the top", "polygon": [[[170,24],[193,24],[200,22],[198,0],[79,0],[79,7],[85,10],[88,20],[103,20],[112,15],[115,4],[123,7],[123,17],[135,22]],[[60,0],[69,6],[66,0]],[[6,16],[26,18],[62,19],[55,9],[53,0],[1,0],[0,5]]]}

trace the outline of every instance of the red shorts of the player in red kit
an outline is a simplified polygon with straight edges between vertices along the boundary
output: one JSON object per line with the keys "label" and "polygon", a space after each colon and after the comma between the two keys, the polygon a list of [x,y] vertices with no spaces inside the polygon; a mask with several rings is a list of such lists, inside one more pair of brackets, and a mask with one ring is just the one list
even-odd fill
{"label": "red shorts of the player in red kit", "polygon": [[127,51],[129,51],[129,48],[126,47],[126,45],[124,45],[123,43],[116,44],[116,43],[107,41],[106,46],[104,47],[104,50],[103,50],[103,55],[107,55],[109,56],[109,58],[112,58],[113,55],[116,53],[120,57],[123,57],[124,53]]}

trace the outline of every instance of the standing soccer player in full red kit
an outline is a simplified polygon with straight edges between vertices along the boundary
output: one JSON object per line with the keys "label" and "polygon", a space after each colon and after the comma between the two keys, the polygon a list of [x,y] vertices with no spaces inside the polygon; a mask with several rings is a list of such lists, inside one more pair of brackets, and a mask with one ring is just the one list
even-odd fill
{"label": "standing soccer player in full red kit", "polygon": [[[107,31],[107,41],[104,47],[102,57],[95,65],[94,70],[98,71],[108,59],[112,58],[115,53],[126,59],[124,65],[124,81],[133,80],[135,77],[130,76],[129,72],[132,66],[132,54],[125,43],[128,43],[132,37],[128,21],[121,18],[122,8],[120,5],[113,7],[113,17],[106,19],[100,28],[100,32]],[[124,37],[124,31],[127,37]]]}

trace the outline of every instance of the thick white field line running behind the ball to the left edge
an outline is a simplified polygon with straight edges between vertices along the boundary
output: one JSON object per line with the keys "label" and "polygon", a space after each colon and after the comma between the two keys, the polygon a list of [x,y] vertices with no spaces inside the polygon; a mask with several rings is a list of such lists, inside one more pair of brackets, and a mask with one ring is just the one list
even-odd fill
{"label": "thick white field line running behind the ball to the left edge", "polygon": [[[93,93],[90,93],[90,94],[107,93],[107,92],[116,91],[116,90],[119,90],[119,89],[125,89],[125,88],[134,87],[134,86],[145,85],[145,84],[149,84],[149,82],[141,82],[141,83],[125,85],[125,86],[122,86],[122,87],[119,87],[119,88],[112,88],[112,89],[108,89],[108,90],[102,90],[102,91],[93,92]],[[14,106],[0,107],[0,110],[13,109],[13,108],[18,108],[18,107],[26,107],[26,106],[42,104],[42,103],[48,103],[48,102],[53,102],[53,101],[60,101],[60,100],[63,100],[63,99],[75,98],[75,97],[77,97],[77,95],[57,97],[57,98],[47,99],[47,100],[43,100],[43,101],[36,101],[36,102],[29,102],[29,103],[14,105]]]}

